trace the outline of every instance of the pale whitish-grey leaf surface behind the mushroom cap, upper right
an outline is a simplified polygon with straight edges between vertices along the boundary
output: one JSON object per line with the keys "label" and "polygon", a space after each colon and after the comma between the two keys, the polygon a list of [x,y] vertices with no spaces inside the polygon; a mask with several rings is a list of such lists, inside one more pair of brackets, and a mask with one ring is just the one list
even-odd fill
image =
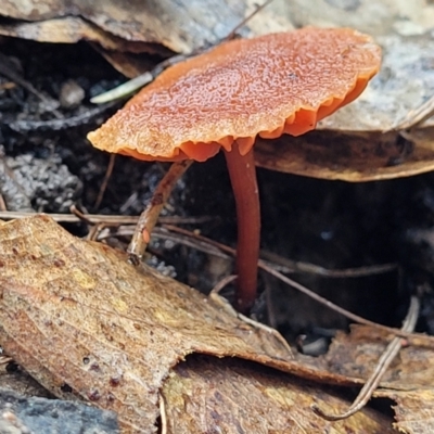
{"label": "pale whitish-grey leaf surface behind the mushroom cap, upper right", "polygon": [[[353,104],[326,118],[320,128],[388,131],[434,95],[434,5],[414,0],[275,0],[293,25],[353,27],[375,37],[383,67]],[[275,2],[273,2],[275,3]],[[271,7],[278,8],[278,4]],[[434,119],[425,122],[433,126]]]}

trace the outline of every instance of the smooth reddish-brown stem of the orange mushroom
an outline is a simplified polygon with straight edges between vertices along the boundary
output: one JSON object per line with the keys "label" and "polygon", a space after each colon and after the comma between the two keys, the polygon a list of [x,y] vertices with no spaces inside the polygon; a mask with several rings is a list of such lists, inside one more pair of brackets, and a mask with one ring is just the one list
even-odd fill
{"label": "smooth reddish-brown stem of the orange mushroom", "polygon": [[225,156],[237,204],[235,307],[241,312],[247,312],[256,297],[259,258],[260,208],[256,167],[253,149],[241,155],[237,142],[230,152],[225,152]]}

